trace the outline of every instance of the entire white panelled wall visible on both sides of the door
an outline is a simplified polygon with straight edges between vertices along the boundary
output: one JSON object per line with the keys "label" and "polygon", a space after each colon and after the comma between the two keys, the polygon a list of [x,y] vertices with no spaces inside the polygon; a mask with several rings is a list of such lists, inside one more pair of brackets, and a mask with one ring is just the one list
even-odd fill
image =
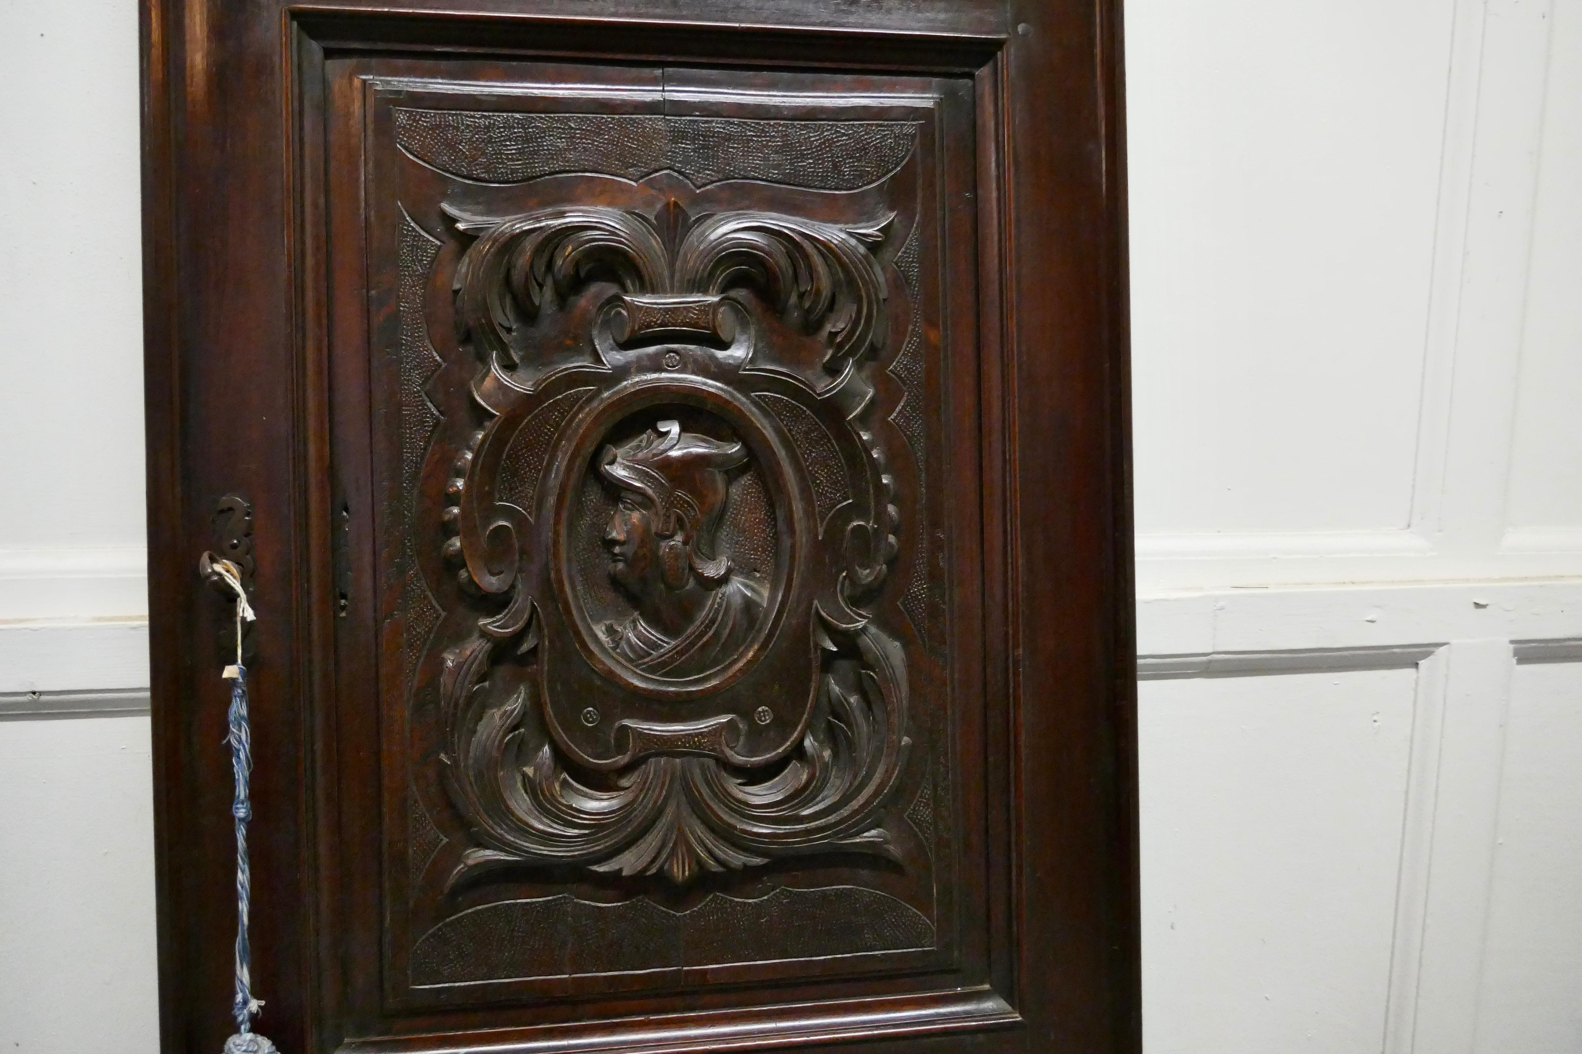
{"label": "entire white panelled wall visible on both sides of the door", "polygon": [[[1582,0],[1126,21],[1149,1054],[1576,1051]],[[0,35],[0,1049],[152,1052],[134,3]]]}

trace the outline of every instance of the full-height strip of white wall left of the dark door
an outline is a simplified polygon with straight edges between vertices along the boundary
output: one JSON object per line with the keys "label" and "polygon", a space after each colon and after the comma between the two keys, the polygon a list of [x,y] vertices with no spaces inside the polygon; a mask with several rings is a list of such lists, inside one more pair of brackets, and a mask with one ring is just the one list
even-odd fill
{"label": "full-height strip of white wall left of the dark door", "polygon": [[0,40],[0,1049],[153,1054],[138,6]]}

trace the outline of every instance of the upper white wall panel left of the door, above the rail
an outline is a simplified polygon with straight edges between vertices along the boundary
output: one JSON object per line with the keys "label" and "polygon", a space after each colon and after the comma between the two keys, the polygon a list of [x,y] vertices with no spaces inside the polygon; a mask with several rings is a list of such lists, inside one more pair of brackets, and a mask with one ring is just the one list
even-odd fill
{"label": "upper white wall panel left of the door, above the rail", "polygon": [[5,578],[13,550],[144,542],[142,259],[138,5],[5,3],[0,28]]}

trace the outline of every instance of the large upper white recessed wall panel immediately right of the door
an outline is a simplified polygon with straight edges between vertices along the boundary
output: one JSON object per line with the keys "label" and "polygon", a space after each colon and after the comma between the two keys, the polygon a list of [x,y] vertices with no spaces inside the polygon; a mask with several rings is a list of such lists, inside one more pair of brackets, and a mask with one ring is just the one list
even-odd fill
{"label": "large upper white recessed wall panel immediately right of the door", "polygon": [[1137,529],[1405,531],[1454,5],[1126,5]]}

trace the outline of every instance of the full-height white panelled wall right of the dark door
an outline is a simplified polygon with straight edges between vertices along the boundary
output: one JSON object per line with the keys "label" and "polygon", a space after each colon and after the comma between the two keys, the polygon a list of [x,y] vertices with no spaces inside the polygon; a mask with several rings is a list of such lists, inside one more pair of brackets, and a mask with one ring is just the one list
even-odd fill
{"label": "full-height white panelled wall right of the dark door", "polygon": [[1149,1054],[1582,1049],[1582,2],[1126,21]]}

